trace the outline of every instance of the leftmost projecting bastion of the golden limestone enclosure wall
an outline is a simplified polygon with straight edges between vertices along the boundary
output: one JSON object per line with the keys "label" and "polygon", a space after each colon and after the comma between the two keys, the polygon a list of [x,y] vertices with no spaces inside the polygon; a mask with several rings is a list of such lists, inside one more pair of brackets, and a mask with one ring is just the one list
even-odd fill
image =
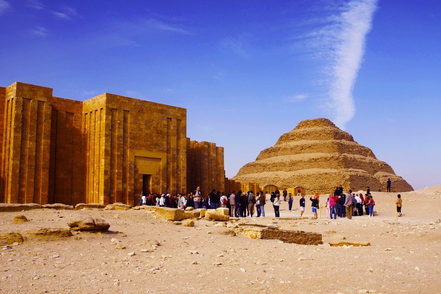
{"label": "leftmost projecting bastion of the golden limestone enclosure wall", "polygon": [[6,88],[0,191],[8,203],[48,203],[52,89]]}

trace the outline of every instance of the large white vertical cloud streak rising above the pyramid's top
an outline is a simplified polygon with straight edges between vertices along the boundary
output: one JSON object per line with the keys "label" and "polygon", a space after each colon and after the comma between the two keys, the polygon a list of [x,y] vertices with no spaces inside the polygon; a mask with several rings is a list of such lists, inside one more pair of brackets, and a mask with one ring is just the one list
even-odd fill
{"label": "large white vertical cloud streak rising above the pyramid's top", "polygon": [[352,91],[376,8],[377,0],[351,0],[330,18],[331,25],[317,32],[319,43],[324,45],[320,53],[328,61],[326,108],[334,116],[334,123],[342,128],[355,115]]}

